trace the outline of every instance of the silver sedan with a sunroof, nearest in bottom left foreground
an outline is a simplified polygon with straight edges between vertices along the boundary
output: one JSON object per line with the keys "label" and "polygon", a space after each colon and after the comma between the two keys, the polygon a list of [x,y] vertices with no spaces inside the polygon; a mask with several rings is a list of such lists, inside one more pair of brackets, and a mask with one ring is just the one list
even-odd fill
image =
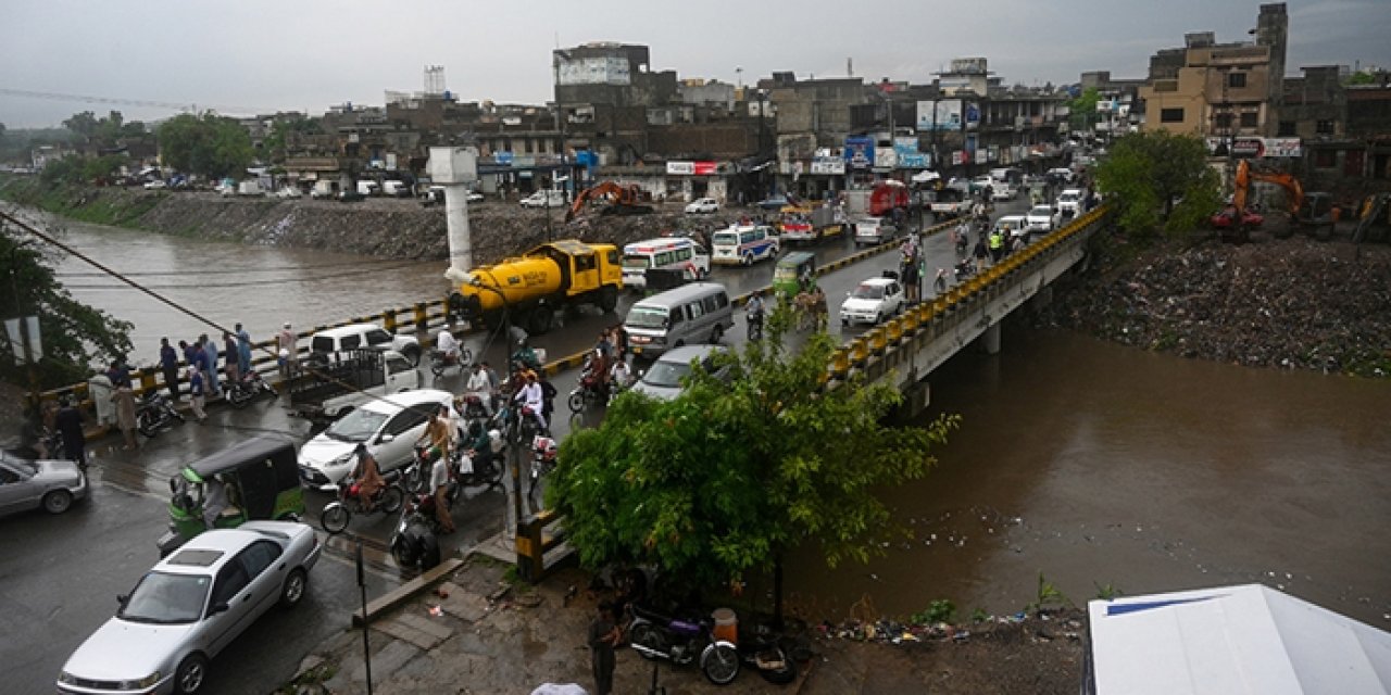
{"label": "silver sedan with a sunroof, nearest in bottom left foreground", "polygon": [[63,664],[58,692],[198,692],[209,659],[271,606],[305,598],[317,560],[314,530],[291,521],[191,539],[120,596],[115,617]]}

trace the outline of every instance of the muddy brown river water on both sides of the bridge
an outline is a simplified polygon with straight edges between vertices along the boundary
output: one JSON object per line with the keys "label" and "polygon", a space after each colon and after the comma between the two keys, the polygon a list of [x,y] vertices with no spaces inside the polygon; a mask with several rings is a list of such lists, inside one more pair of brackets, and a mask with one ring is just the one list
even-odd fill
{"label": "muddy brown river water on both sides of the bridge", "polygon": [[[260,339],[444,293],[438,261],[246,247],[65,222],[104,263]],[[160,335],[202,332],[75,260],[74,295]],[[266,307],[266,309],[263,309]],[[188,335],[189,338],[192,335]],[[885,491],[912,541],[868,566],[789,559],[794,606],[1013,613],[1039,574],[1077,603],[1260,581],[1391,628],[1391,385],[1150,354],[1007,325],[1003,352],[932,377],[963,427],[926,478]],[[931,413],[929,413],[931,414]]]}

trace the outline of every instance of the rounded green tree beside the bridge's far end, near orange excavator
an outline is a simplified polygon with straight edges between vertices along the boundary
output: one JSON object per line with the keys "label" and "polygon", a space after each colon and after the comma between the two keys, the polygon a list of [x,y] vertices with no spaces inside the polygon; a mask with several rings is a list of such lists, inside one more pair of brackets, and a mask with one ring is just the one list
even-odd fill
{"label": "rounded green tree beside the bridge's far end, near orange excavator", "polygon": [[1096,186],[1118,208],[1121,228],[1139,236],[1160,224],[1174,234],[1191,231],[1221,203],[1207,145],[1167,131],[1116,140],[1096,167]]}

